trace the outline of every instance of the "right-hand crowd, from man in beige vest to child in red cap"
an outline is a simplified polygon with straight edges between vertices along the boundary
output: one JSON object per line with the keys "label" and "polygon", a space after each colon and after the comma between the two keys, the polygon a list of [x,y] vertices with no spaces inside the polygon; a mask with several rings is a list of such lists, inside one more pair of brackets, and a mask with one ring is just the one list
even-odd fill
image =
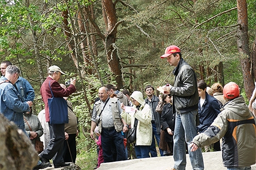
{"label": "right-hand crowd, from man in beige vest to child in red cap", "polygon": [[[198,81],[194,69],[175,45],[166,48],[161,58],[167,58],[175,66],[175,81],[173,86],[164,85],[159,97],[155,96],[154,87],[148,85],[146,99],[141,91],[134,91],[127,94],[127,104],[120,102],[125,96],[113,85],[99,89],[91,119],[91,138],[95,140],[96,128],[101,141],[97,167],[102,162],[131,157],[132,147],[128,155],[123,132],[134,145],[136,157],[133,158],[157,156],[156,141],[160,156],[173,155],[173,170],[185,169],[186,153],[193,169],[204,169],[202,148],[209,152],[219,151],[220,147],[227,169],[250,169],[256,158],[255,117],[240,96],[238,85],[231,82],[223,88],[215,83],[207,87],[205,81]],[[256,109],[255,102],[251,105]]]}

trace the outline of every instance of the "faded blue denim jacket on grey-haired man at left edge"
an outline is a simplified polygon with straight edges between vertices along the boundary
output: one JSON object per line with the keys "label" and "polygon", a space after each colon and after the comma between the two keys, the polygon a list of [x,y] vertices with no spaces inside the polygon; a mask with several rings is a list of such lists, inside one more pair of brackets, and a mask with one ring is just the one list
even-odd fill
{"label": "faded blue denim jacket on grey-haired man at left edge", "polygon": [[[2,77],[0,82],[7,80]],[[0,84],[0,112],[9,121],[13,121],[19,128],[24,128],[23,112],[29,110],[29,105],[22,102],[21,95],[19,95],[12,83]]]}

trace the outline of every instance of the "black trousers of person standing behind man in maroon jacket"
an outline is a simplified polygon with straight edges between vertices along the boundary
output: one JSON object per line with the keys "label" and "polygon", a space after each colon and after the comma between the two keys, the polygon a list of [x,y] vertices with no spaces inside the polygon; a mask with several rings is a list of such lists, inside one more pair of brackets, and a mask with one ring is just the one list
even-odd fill
{"label": "black trousers of person standing behind man in maroon jacket", "polygon": [[[68,146],[70,149],[68,149]],[[62,156],[65,162],[76,162],[76,133],[68,134],[68,140],[64,141]],[[73,161],[71,159],[71,156]]]}

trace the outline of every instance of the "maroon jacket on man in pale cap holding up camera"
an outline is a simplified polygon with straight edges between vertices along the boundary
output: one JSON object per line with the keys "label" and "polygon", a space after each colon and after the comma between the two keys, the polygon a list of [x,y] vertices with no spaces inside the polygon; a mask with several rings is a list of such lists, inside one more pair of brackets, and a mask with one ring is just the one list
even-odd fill
{"label": "maroon jacket on man in pale cap holding up camera", "polygon": [[49,106],[48,106],[48,99],[52,97],[49,81],[51,80],[51,89],[54,97],[67,97],[71,95],[73,92],[76,91],[76,87],[74,85],[70,85],[67,89],[63,89],[58,81],[53,80],[50,77],[47,77],[45,82],[43,82],[40,92],[42,95],[43,102],[45,103],[45,119],[46,122],[50,122],[50,115],[49,115]]}

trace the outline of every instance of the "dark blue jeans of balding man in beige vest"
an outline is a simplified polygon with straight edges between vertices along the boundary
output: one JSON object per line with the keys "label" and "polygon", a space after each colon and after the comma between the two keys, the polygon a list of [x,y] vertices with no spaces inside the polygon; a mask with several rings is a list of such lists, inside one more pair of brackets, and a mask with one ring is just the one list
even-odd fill
{"label": "dark blue jeans of balding man in beige vest", "polygon": [[[124,140],[121,132],[117,132],[115,127],[102,128],[101,146],[104,162],[126,160]],[[113,154],[116,156],[113,156]]]}

